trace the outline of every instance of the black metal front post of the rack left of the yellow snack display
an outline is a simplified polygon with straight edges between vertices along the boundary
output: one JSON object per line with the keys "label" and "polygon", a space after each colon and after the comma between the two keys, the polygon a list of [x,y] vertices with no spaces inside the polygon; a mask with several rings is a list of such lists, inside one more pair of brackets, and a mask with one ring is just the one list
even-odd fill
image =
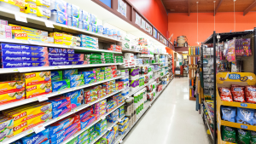
{"label": "black metal front post of the rack left of the yellow snack display", "polygon": [[[217,144],[216,141],[216,32],[213,31],[213,69],[214,69],[214,84],[213,84],[213,95],[214,95],[214,119],[213,119],[213,142]],[[221,136],[221,135],[218,135]]]}

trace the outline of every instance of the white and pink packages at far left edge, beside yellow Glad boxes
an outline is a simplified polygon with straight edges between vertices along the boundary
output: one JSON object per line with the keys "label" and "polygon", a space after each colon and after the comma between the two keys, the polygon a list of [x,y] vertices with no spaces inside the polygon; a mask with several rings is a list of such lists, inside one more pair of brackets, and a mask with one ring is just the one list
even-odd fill
{"label": "white and pink packages at far left edge, beside yellow Glad boxes", "polygon": [[0,20],[0,37],[12,38],[12,27],[8,26],[7,20]]}

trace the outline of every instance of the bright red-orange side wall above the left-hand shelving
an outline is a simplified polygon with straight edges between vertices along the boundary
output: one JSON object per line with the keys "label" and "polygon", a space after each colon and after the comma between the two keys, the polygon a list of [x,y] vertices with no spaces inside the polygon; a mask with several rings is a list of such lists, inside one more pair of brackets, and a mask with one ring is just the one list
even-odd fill
{"label": "bright red-orange side wall above the left-hand shelving", "polygon": [[[161,0],[128,0],[164,36],[167,37],[168,15]],[[168,38],[168,37],[167,37]]]}

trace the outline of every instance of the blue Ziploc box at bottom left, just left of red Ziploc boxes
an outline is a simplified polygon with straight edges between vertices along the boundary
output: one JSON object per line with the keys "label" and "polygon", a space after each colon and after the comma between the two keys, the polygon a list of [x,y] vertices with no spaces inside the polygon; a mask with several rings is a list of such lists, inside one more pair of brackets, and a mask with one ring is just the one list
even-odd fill
{"label": "blue Ziploc box at bottom left, just left of red Ziploc boxes", "polygon": [[26,135],[25,137],[21,138],[23,144],[39,144],[49,139],[49,130],[43,130],[38,134],[32,133],[30,135]]}

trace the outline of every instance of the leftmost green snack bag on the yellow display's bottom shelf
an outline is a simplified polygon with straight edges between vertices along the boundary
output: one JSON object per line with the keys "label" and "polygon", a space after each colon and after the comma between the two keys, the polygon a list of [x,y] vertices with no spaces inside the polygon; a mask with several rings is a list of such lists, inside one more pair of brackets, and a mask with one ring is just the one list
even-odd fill
{"label": "leftmost green snack bag on the yellow display's bottom shelf", "polygon": [[236,130],[234,128],[230,128],[228,126],[222,126],[222,140],[229,142],[236,142]]}

